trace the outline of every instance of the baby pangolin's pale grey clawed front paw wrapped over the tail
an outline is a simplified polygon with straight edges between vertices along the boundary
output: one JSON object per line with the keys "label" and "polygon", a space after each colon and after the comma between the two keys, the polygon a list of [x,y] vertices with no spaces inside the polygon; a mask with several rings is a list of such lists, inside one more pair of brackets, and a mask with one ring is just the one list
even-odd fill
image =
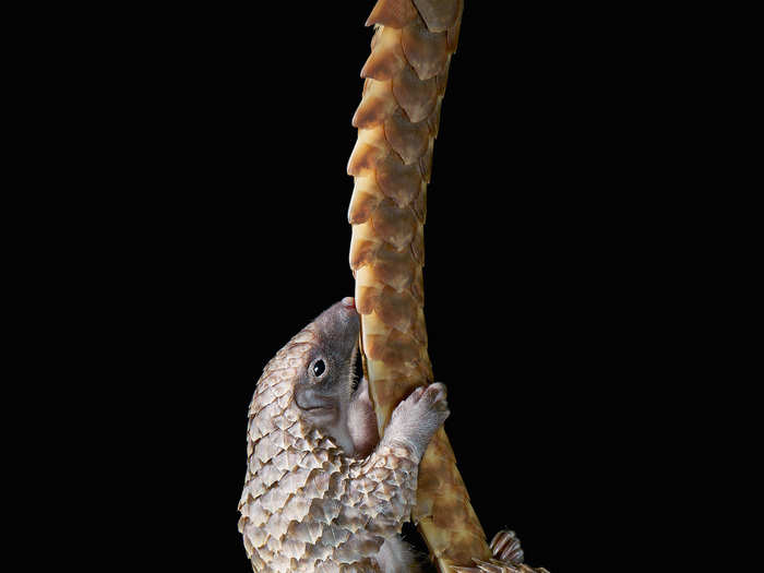
{"label": "baby pangolin's pale grey clawed front paw wrapped over the tail", "polygon": [[419,461],[449,414],[444,384],[420,386],[395,408],[385,437],[408,446]]}

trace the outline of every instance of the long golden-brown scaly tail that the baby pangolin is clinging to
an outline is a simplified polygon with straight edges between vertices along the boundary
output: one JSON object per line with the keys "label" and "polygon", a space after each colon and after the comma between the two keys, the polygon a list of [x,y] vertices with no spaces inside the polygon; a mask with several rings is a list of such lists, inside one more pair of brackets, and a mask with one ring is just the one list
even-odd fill
{"label": "long golden-brown scaly tail that the baby pangolin is clinging to", "polygon": [[[380,432],[401,399],[432,381],[422,287],[426,193],[462,10],[463,0],[379,0],[367,21],[377,29],[353,118],[350,267]],[[442,428],[421,462],[414,518],[442,572],[492,557]]]}

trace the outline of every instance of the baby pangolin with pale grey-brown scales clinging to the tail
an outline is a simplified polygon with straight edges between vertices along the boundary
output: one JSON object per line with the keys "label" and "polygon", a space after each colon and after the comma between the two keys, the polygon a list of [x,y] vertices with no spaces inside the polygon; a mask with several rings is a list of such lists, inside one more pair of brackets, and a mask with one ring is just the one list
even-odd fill
{"label": "baby pangolin with pale grey-brown scales clinging to the tail", "polygon": [[347,297],[293,337],[256,384],[239,502],[254,571],[418,570],[397,534],[419,461],[449,416],[445,387],[415,390],[377,443],[366,384],[353,390],[359,326]]}

